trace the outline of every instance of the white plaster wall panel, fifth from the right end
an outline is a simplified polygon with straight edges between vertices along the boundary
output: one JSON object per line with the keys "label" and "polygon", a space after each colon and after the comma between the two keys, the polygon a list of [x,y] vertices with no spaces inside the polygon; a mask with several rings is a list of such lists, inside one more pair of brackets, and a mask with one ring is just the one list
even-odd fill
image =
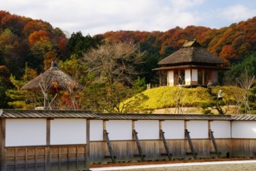
{"label": "white plaster wall panel, fifth from the right end", "polygon": [[139,139],[159,139],[159,121],[135,121],[135,129]]}

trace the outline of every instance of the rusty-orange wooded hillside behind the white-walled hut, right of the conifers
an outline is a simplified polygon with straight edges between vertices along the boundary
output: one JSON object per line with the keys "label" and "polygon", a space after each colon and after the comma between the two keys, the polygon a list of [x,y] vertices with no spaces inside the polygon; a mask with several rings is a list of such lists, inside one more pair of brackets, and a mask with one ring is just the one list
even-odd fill
{"label": "rusty-orange wooded hillside behind the white-walled hut, right of the conifers", "polygon": [[171,28],[168,31],[108,31],[102,34],[107,41],[132,40],[142,43],[142,49],[150,46],[166,57],[179,49],[185,40],[197,39],[209,52],[222,58],[230,65],[236,58],[256,50],[256,17],[233,23],[220,29],[203,26]]}

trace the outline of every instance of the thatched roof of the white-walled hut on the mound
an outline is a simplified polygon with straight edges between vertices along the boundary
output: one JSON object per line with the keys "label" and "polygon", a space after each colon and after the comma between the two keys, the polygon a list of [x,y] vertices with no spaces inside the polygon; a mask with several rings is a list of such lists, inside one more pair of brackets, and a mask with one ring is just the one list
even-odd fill
{"label": "thatched roof of the white-walled hut on the mound", "polygon": [[203,64],[203,65],[220,65],[224,62],[208,52],[197,40],[187,41],[176,52],[163,58],[158,65],[181,65],[181,64]]}

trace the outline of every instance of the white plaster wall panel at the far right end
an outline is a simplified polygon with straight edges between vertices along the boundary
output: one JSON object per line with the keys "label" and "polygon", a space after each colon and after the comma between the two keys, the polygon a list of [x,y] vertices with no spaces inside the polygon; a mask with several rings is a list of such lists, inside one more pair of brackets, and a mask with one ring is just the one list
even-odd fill
{"label": "white plaster wall panel at the far right end", "polygon": [[256,139],[256,121],[232,121],[232,138]]}

